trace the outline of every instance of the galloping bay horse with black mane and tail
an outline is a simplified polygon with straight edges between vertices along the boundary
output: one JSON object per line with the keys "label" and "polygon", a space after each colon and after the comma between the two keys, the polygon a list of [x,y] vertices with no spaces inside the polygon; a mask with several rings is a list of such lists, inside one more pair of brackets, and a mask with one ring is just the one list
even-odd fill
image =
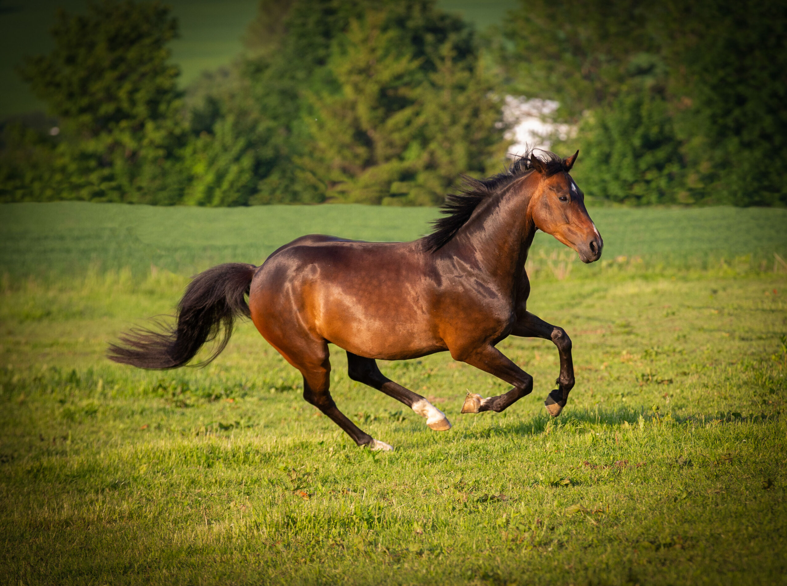
{"label": "galloping bay horse with black mane and tail", "polygon": [[401,401],[431,429],[443,431],[451,427],[445,414],[386,378],[376,359],[447,350],[513,385],[501,396],[467,393],[462,413],[500,412],[533,390],[533,377],[495,345],[509,335],[541,337],[560,356],[558,388],[545,401],[556,417],[574,386],[571,339],[527,311],[525,260],[536,230],[575,249],[585,263],[601,256],[604,243],[569,175],[577,155],[530,152],[498,175],[465,178],[464,189],[446,197],[444,217],[434,221],[432,233],[416,241],[311,235],[283,245],[260,267],[212,267],[187,286],[175,325],[132,329],[110,345],[108,356],[142,368],[182,367],[223,330],[207,363],[227,345],[233,320],[245,315],[301,371],[307,402],[359,446],[392,450],[336,407],[329,391],[329,344],[347,352],[349,378]]}

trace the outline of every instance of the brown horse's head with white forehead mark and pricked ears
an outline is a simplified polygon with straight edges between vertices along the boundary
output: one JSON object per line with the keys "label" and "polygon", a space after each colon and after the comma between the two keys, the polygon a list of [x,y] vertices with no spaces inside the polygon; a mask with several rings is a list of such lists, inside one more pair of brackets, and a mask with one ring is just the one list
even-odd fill
{"label": "brown horse's head with white forehead mark and pricked ears", "polygon": [[[562,161],[550,161],[552,164],[530,155],[530,164],[540,181],[530,197],[529,209],[539,230],[575,249],[583,263],[593,263],[600,259],[604,241],[585,208],[585,194],[568,174],[578,154],[579,151]],[[557,162],[562,162],[560,171],[555,171]]]}

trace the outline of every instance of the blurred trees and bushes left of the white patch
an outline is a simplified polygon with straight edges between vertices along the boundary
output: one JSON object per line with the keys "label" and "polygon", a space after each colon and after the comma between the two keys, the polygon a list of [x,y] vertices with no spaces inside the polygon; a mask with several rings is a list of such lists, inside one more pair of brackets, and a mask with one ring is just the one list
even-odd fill
{"label": "blurred trees and bushes left of the white patch", "polygon": [[474,31],[430,0],[261,0],[246,52],[185,92],[157,2],[52,32],[20,72],[60,132],[6,124],[4,201],[434,205],[504,159]]}

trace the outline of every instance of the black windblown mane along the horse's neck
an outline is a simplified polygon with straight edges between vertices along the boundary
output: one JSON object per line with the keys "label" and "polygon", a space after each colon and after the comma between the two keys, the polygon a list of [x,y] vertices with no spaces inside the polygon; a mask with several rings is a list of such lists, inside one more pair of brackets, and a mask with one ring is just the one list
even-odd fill
{"label": "black windblown mane along the horse's neck", "polygon": [[[544,164],[547,176],[566,170],[563,159],[555,153],[541,151],[541,149],[539,151],[541,153],[538,155],[538,160]],[[444,217],[432,221],[434,229],[423,239],[427,250],[436,252],[441,249],[467,223],[482,200],[508,186],[514,179],[533,171],[533,162],[530,160],[533,156],[533,150],[530,149],[517,157],[505,171],[486,179],[473,179],[463,175],[464,185],[459,193],[449,193],[445,196],[445,204],[440,209]]]}

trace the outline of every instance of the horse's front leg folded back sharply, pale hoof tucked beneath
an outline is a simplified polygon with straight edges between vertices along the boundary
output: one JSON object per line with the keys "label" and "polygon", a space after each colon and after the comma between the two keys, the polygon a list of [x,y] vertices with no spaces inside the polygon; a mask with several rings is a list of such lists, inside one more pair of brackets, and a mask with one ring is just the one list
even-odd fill
{"label": "horse's front leg folded back sharply, pale hoof tucked beneath", "polygon": [[[453,352],[452,352],[453,354]],[[476,393],[467,393],[462,406],[462,413],[481,413],[482,411],[503,411],[515,401],[533,390],[533,377],[512,363],[500,350],[492,345],[482,346],[469,352],[460,359],[471,366],[493,374],[497,378],[514,385],[514,388],[500,396],[483,398]]]}

